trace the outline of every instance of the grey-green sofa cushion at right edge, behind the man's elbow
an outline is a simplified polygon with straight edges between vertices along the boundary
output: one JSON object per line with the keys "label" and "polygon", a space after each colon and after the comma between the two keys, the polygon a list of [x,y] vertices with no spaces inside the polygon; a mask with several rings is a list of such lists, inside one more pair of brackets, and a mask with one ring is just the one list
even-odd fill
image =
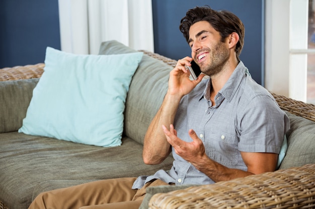
{"label": "grey-green sofa cushion at right edge, behind the man's elbow", "polygon": [[291,128],[287,132],[288,150],[279,169],[315,163],[315,122],[286,111]]}

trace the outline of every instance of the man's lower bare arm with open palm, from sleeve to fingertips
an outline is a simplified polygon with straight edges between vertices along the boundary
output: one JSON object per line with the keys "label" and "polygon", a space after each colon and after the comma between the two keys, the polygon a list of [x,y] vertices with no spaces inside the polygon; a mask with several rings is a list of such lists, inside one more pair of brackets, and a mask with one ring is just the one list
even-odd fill
{"label": "man's lower bare arm with open palm, from sleeve to fingertips", "polygon": [[211,160],[206,155],[202,141],[192,129],[189,130],[189,135],[193,139],[192,142],[185,142],[178,138],[173,125],[170,126],[170,130],[166,126],[163,126],[163,130],[168,142],[174,147],[175,152],[215,182],[274,171],[276,168],[278,154],[261,152],[241,153],[244,162],[248,166],[247,171],[228,168]]}

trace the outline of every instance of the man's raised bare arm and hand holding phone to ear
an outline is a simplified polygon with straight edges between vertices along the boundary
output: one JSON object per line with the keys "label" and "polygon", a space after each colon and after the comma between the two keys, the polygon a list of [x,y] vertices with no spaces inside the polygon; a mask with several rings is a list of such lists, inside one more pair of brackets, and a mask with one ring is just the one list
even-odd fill
{"label": "man's raised bare arm and hand holding phone to ear", "polygon": [[181,98],[195,88],[204,76],[201,74],[194,81],[189,79],[185,65],[190,65],[191,60],[189,57],[179,60],[170,72],[167,94],[144,136],[142,157],[146,164],[159,164],[170,154],[171,145],[161,127],[174,122]]}

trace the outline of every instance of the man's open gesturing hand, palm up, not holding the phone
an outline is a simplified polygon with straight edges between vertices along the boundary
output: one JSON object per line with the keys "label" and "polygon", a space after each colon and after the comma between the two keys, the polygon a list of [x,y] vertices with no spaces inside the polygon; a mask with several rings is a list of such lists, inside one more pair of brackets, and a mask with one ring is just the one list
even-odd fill
{"label": "man's open gesturing hand, palm up, not holding the phone", "polygon": [[163,125],[162,128],[167,141],[173,146],[176,154],[181,156],[186,161],[195,165],[198,164],[198,162],[200,162],[203,157],[207,157],[205,154],[204,144],[198,138],[196,132],[193,129],[188,131],[188,134],[193,139],[193,141],[186,142],[177,137],[177,131],[172,124],[170,125],[170,130],[165,125]]}

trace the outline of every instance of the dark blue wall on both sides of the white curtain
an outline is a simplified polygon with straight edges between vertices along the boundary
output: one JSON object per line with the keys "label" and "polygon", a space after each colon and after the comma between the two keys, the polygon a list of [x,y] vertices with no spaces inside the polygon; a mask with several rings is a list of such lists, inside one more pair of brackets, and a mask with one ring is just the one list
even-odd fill
{"label": "dark blue wall on both sides of the white curtain", "polygon": [[[155,52],[176,60],[190,55],[178,26],[188,9],[204,5],[229,10],[244,22],[241,59],[263,84],[264,0],[152,0]],[[58,0],[1,0],[0,29],[0,68],[44,62],[47,46],[60,49]]]}

